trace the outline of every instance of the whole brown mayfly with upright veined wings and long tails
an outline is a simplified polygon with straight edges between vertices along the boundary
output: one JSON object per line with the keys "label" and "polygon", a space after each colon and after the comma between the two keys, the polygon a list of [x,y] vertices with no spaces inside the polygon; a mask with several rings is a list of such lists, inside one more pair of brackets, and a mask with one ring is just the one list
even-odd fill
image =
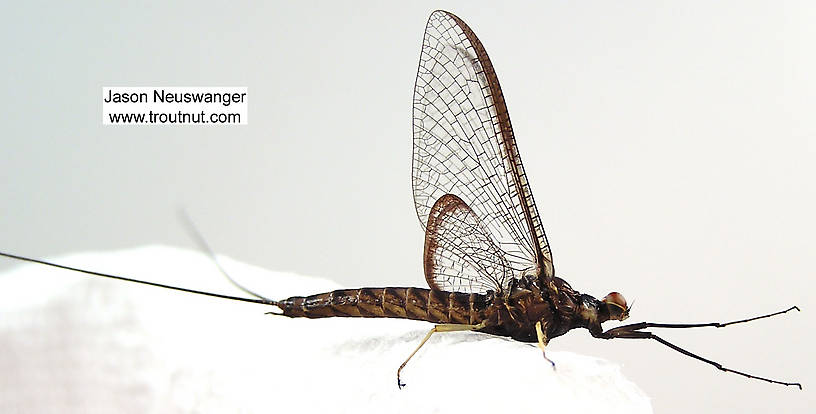
{"label": "whole brown mayfly with upright veined wings and long tails", "polygon": [[[719,370],[774,384],[801,384],[726,368],[680,348],[648,328],[724,327],[799,310],[727,323],[641,322],[603,330],[629,317],[623,295],[603,299],[579,293],[556,276],[530,184],[521,163],[499,80],[482,42],[459,17],[431,14],[425,28],[413,101],[413,195],[425,230],[423,264],[428,288],[335,290],[271,300],[235,297],[0,255],[96,276],[231,300],[273,305],[292,318],[405,318],[434,327],[397,369],[436,332],[477,331],[547,343],[575,328],[596,338],[651,339]],[[211,252],[210,252],[211,253]],[[240,285],[239,285],[240,287]],[[544,355],[546,357],[546,354]],[[549,361],[549,359],[547,359]],[[549,361],[555,368],[555,363]]]}

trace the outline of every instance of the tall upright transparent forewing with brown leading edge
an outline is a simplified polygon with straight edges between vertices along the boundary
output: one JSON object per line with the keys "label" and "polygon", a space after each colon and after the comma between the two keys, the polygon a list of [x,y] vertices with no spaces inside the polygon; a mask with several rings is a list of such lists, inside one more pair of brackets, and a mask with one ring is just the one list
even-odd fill
{"label": "tall upright transparent forewing with brown leading edge", "polygon": [[[434,203],[445,194],[456,195],[490,235],[513,275],[535,272],[549,281],[553,275],[549,244],[493,65],[473,31],[444,11],[431,14],[425,28],[413,117],[414,204],[426,233]],[[466,235],[444,236],[456,237]],[[459,276],[461,283],[442,284],[464,286],[482,273]]]}

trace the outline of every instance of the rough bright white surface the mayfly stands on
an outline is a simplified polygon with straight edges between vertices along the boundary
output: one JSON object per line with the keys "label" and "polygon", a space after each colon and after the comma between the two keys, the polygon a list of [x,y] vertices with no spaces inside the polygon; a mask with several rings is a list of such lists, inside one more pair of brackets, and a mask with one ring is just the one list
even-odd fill
{"label": "rough bright white surface the mayfly stands on", "polygon": [[[236,292],[205,256],[168,247],[54,259]],[[331,282],[222,258],[276,298]],[[37,265],[0,275],[0,412],[651,412],[617,365],[395,319],[288,319],[259,305]],[[522,411],[524,410],[524,411]]]}

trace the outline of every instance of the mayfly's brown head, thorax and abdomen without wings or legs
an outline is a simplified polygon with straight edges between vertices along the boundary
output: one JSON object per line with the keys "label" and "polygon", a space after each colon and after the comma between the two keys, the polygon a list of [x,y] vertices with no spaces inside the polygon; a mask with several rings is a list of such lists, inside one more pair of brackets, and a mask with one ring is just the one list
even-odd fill
{"label": "mayfly's brown head, thorax and abdomen without wings or legs", "polygon": [[625,319],[620,295],[599,301],[573,291],[556,278],[562,295],[555,311],[544,299],[534,278],[519,280],[508,295],[446,292],[413,287],[342,289],[312,296],[294,296],[276,305],[284,316],[305,318],[363,317],[403,318],[438,324],[483,325],[478,330],[509,336],[517,341],[536,342],[536,323],[546,327],[546,338],[563,335],[573,328],[600,333],[601,323]]}

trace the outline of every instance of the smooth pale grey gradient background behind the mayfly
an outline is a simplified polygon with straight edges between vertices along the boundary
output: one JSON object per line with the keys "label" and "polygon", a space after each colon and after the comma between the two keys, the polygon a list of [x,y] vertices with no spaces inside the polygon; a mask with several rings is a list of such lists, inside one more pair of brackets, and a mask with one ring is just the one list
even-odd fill
{"label": "smooth pale grey gradient background behind the mayfly", "polygon": [[[437,8],[490,53],[559,276],[622,292],[635,322],[797,304],[664,337],[805,390],[656,343],[575,332],[551,347],[619,362],[658,412],[805,410],[816,386],[807,2],[4,5],[0,248],[193,247],[176,218],[186,207],[236,259],[349,287],[422,286],[411,99]],[[249,125],[103,126],[103,86],[247,86]]]}

